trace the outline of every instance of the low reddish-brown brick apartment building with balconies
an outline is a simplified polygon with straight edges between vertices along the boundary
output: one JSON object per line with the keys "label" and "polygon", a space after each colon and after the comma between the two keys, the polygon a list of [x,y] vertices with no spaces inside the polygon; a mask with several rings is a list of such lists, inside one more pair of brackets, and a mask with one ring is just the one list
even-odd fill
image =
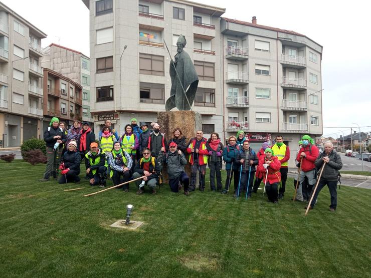
{"label": "low reddish-brown brick apartment building with balconies", "polygon": [[82,120],[82,86],[59,72],[44,68],[44,127],[52,117],[72,125]]}

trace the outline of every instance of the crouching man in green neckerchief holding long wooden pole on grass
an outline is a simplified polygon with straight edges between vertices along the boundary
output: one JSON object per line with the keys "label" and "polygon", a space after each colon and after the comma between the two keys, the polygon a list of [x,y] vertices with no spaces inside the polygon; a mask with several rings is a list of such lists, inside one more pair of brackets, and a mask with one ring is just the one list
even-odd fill
{"label": "crouching man in green neckerchief holding long wooden pole on grass", "polygon": [[143,175],[145,177],[142,180],[135,181],[139,188],[136,194],[140,195],[144,193],[144,185],[147,185],[152,190],[152,194],[156,194],[156,185],[159,180],[157,173],[161,172],[161,163],[155,157],[151,156],[149,148],[144,148],[142,155],[143,157],[139,160],[139,163],[135,165],[133,179]]}

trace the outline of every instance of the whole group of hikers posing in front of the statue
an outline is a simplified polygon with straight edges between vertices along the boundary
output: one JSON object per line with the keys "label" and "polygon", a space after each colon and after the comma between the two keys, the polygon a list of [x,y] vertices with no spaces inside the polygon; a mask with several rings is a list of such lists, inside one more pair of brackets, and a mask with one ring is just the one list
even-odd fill
{"label": "whole group of hikers posing in front of the statue", "polygon": [[[158,123],[153,122],[150,126],[151,129],[146,122],[140,122],[138,126],[133,118],[119,137],[111,121],[106,120],[96,141],[88,122],[80,124],[75,121],[66,130],[65,123],[60,123],[54,117],[44,132],[47,166],[40,181],[48,181],[50,176],[57,179],[58,170],[61,170],[59,183],[80,182],[80,163],[83,159],[85,178],[92,186],[104,187],[107,179],[111,179],[113,185],[136,179],[137,194],[144,193],[145,187],[156,194],[157,185],[162,183],[161,172],[166,171],[170,190],[183,190],[185,195],[189,195],[190,191],[196,190],[197,176],[199,190],[205,191],[208,165],[212,191],[227,194],[233,179],[234,197],[245,193],[246,198],[250,198],[263,182],[268,201],[277,203],[284,198],[290,149],[283,142],[282,135],[275,137],[272,146],[264,142],[261,149],[255,152],[243,130],[237,136],[230,136],[224,146],[216,132],[207,139],[202,130],[198,130],[196,136],[187,142],[181,129],[175,128],[172,138],[166,141]],[[310,209],[314,207],[319,191],[327,185],[331,195],[330,210],[334,211],[337,206],[337,181],[342,167],[340,156],[333,150],[331,142],[325,142],[324,152],[319,153],[309,135],[304,135],[298,144],[299,150],[295,155],[298,167],[298,181],[294,181],[294,185],[297,185],[295,200],[309,201],[317,171],[325,163],[318,190],[308,205]],[[221,174],[223,161],[227,176],[224,188]],[[191,168],[190,177],[184,168],[187,164]],[[129,183],[122,188],[128,192]]]}

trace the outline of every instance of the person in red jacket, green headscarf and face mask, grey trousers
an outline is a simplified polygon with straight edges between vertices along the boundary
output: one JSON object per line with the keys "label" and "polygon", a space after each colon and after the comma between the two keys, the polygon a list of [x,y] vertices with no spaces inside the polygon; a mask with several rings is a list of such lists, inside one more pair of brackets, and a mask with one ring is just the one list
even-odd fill
{"label": "person in red jacket, green headscarf and face mask, grey trousers", "polygon": [[312,191],[313,185],[316,182],[316,166],[314,162],[316,161],[319,151],[318,148],[314,145],[314,141],[310,138],[309,135],[304,135],[301,139],[303,142],[302,147],[299,150],[299,153],[296,157],[297,161],[301,162],[301,171],[299,174],[299,186],[296,194],[297,201],[304,201],[303,197],[303,189],[302,189],[302,182],[304,181],[305,177],[308,178],[308,187],[307,196],[310,196],[310,192]]}

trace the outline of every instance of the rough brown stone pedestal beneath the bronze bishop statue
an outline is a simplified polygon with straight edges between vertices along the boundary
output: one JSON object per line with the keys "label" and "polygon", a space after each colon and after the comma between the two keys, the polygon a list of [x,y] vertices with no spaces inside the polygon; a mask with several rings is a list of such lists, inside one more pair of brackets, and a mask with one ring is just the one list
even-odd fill
{"label": "rough brown stone pedestal beneath the bronze bishop statue", "polygon": [[[188,143],[191,138],[196,136],[197,130],[202,130],[202,116],[200,113],[194,111],[169,111],[169,112],[158,112],[157,123],[160,125],[161,132],[165,133],[166,142],[173,137],[173,131],[175,128],[180,128],[183,136],[186,137]],[[186,154],[187,160],[189,155]],[[191,167],[187,164],[186,173],[191,179]],[[162,171],[163,182],[168,183],[167,168],[164,165]]]}

